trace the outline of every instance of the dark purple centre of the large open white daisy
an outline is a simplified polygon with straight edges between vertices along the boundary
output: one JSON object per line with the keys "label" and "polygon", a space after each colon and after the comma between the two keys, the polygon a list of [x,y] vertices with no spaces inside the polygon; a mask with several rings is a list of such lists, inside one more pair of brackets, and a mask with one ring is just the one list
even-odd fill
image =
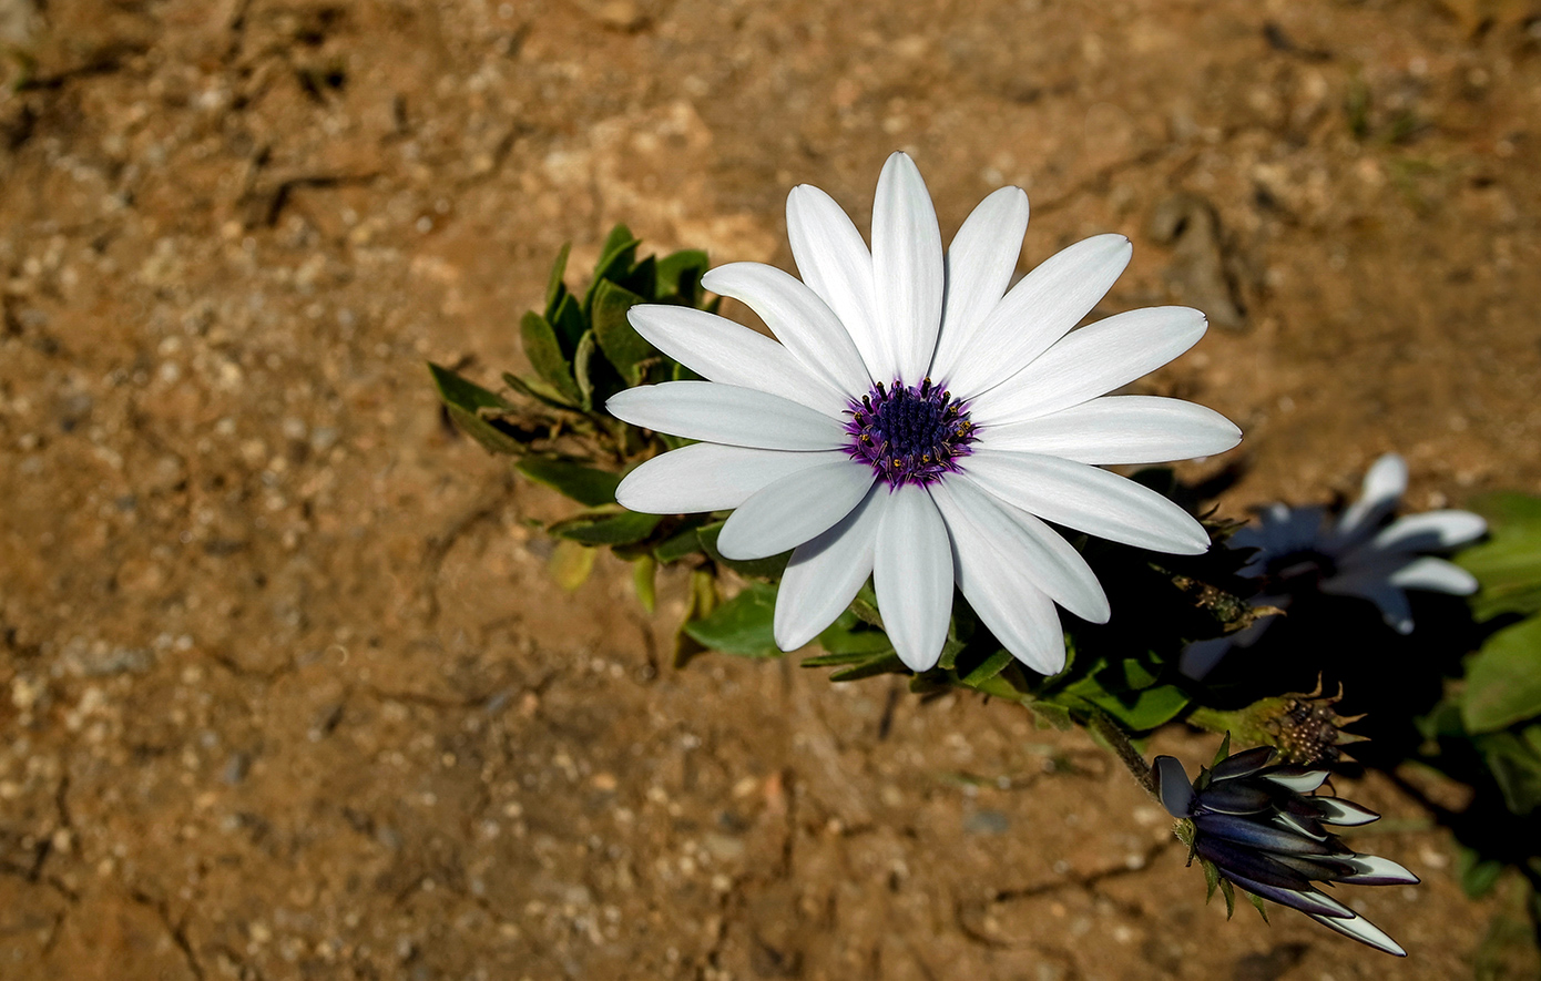
{"label": "dark purple centre of the large open white daisy", "polygon": [[846,453],[866,460],[891,488],[935,484],[957,470],[957,459],[972,453],[969,447],[979,439],[963,400],[931,379],[920,385],[895,379],[892,388],[878,382],[860,400],[852,399],[846,414]]}

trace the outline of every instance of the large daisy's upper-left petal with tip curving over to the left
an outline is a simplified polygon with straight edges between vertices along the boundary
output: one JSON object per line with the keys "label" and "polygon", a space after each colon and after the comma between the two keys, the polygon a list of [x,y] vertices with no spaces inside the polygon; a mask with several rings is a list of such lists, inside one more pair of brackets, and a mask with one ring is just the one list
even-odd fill
{"label": "large daisy's upper-left petal with tip curving over to the left", "polygon": [[804,368],[826,376],[841,393],[861,396],[872,388],[866,363],[840,317],[791,273],[760,262],[732,262],[709,271],[701,285],[743,300]]}

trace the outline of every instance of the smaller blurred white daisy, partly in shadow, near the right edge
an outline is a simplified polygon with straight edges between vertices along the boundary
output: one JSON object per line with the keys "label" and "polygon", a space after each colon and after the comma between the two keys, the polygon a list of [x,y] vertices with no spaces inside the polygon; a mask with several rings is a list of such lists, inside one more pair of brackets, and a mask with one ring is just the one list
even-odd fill
{"label": "smaller blurred white daisy, partly in shadow, near the right edge", "polygon": [[[1381,608],[1385,625],[1413,631],[1407,590],[1470,596],[1476,578],[1459,565],[1421,553],[1455,548],[1487,533],[1487,522],[1470,511],[1425,511],[1390,524],[1407,491],[1407,464],[1395,453],[1378,459],[1364,476],[1359,499],[1333,517],[1322,507],[1291,508],[1273,504],[1257,522],[1231,536],[1233,548],[1256,548],[1239,571],[1262,579],[1254,605],[1287,608],[1305,591],[1358,596]],[[1204,678],[1233,647],[1247,648],[1262,638],[1273,618],[1227,638],[1190,644],[1180,670]]]}

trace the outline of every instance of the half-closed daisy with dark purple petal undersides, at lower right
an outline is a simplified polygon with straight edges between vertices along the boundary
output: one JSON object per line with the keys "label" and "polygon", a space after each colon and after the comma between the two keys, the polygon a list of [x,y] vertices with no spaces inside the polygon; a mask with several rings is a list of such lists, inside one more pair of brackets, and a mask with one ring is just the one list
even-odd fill
{"label": "half-closed daisy with dark purple petal undersides, at lower right", "polygon": [[1204,864],[1211,890],[1216,879],[1231,882],[1376,950],[1407,956],[1375,924],[1316,887],[1316,882],[1418,882],[1407,869],[1375,855],[1358,855],[1327,830],[1370,824],[1379,815],[1339,798],[1316,796],[1313,792],[1327,779],[1327,770],[1277,765],[1273,759],[1273,747],[1236,753],[1214,768],[1202,768],[1190,784],[1177,759],[1156,758],[1162,804],[1171,816],[1191,824],[1191,839],[1179,833],[1188,841],[1190,861],[1197,856]]}

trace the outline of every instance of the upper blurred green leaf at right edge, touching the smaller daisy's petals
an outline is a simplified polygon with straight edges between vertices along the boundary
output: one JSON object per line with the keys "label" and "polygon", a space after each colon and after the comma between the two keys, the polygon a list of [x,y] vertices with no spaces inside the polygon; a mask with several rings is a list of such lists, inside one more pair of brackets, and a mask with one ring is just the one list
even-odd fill
{"label": "upper blurred green leaf at right edge, touching the smaller daisy's petals", "polygon": [[1499,613],[1541,611],[1541,497],[1492,494],[1472,507],[1487,519],[1489,531],[1486,542],[1455,557],[1482,584],[1472,598],[1472,614],[1486,621]]}

